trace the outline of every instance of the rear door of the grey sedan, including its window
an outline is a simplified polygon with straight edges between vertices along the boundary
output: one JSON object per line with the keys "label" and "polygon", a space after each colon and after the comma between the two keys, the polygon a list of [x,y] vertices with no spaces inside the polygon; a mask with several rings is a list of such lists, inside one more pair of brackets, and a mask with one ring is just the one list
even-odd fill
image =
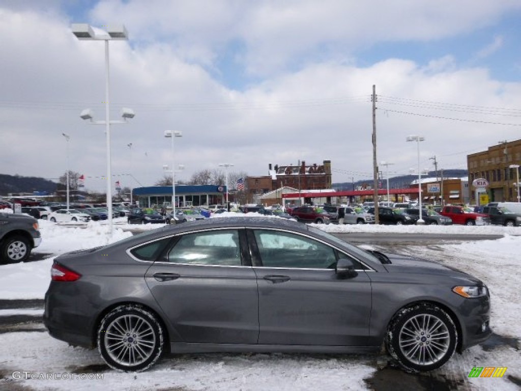
{"label": "rear door of the grey sedan, including its window", "polygon": [[215,229],[178,236],[147,270],[152,295],[185,342],[257,343],[257,280],[244,235]]}

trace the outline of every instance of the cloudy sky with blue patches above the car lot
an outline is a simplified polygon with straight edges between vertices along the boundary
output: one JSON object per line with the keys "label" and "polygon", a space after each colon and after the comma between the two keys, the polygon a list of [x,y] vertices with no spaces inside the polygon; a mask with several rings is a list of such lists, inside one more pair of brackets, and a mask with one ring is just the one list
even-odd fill
{"label": "cloudy sky with blue patches above the car lot", "polygon": [[[171,164],[267,175],[268,164],[331,160],[333,182],[466,168],[466,155],[521,135],[518,0],[1,0],[0,173],[106,186],[102,42],[71,23],[123,23],[110,42],[113,181],[150,186]],[[128,144],[132,144],[129,148]],[[383,169],[383,168],[382,168]],[[384,170],[384,169],[383,169]],[[132,177],[135,178],[132,179]]]}

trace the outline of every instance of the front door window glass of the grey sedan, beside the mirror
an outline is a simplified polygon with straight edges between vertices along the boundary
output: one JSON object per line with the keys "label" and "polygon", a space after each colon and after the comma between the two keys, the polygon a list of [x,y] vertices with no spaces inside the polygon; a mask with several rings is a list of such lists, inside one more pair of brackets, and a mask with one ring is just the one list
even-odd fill
{"label": "front door window glass of the grey sedan, beside the mirror", "polygon": [[314,239],[262,229],[254,234],[264,267],[326,269],[337,262],[334,249]]}

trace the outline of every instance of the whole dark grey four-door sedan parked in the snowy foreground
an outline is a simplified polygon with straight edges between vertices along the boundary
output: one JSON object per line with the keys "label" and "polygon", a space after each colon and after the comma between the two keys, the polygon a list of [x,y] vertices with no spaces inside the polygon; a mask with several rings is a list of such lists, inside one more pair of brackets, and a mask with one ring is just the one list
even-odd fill
{"label": "whole dark grey four-door sedan parked in the snowy foreground", "polygon": [[97,346],[122,371],[146,370],[163,351],[382,346],[404,368],[430,371],[492,334],[481,280],[276,218],[155,229],[60,255],[51,278],[43,315],[49,334]]}

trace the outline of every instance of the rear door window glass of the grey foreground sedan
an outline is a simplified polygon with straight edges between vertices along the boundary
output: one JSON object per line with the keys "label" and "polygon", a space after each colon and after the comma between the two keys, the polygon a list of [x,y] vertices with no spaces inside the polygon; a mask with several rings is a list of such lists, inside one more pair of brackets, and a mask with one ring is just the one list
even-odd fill
{"label": "rear door window glass of the grey foreground sedan", "polygon": [[224,229],[183,235],[167,258],[171,263],[241,266],[239,232]]}

